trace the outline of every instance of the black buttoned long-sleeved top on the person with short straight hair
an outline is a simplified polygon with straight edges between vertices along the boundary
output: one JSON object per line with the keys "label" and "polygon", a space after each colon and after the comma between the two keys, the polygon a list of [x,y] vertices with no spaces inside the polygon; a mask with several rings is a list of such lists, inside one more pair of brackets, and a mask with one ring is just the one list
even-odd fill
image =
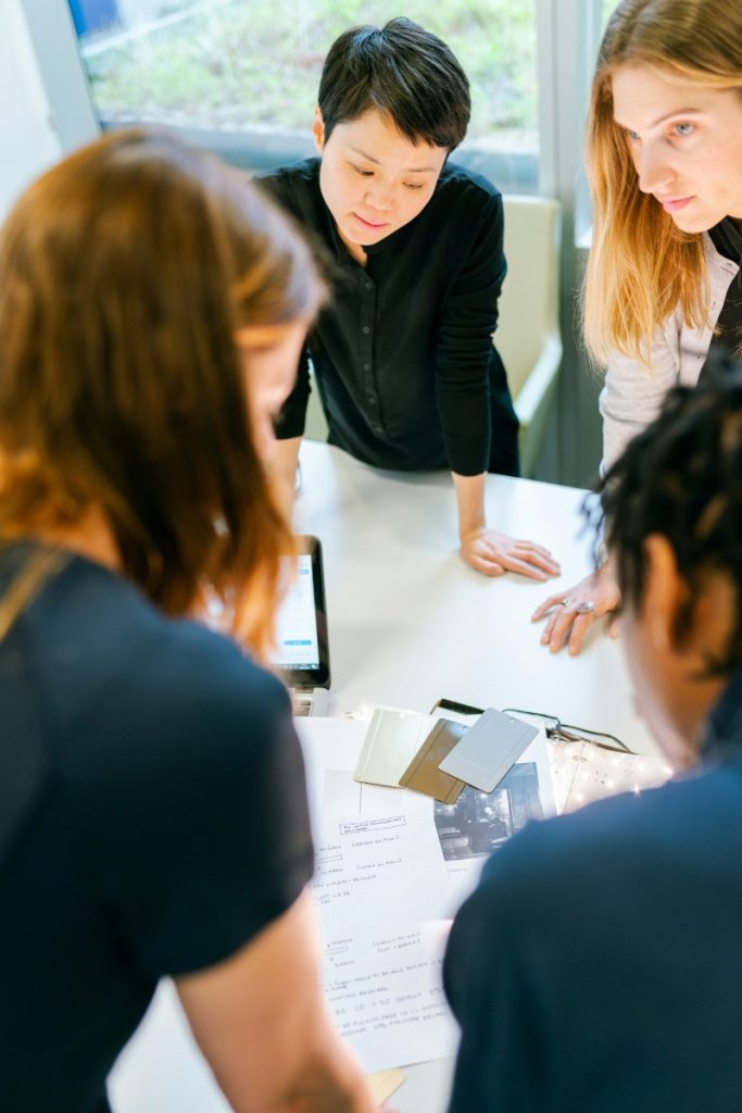
{"label": "black buttoned long-sleeved top on the person with short straight hair", "polygon": [[[332,302],[308,342],[330,444],[377,467],[517,474],[517,418],[491,338],[506,269],[495,187],[447,165],[423,211],[365,248],[363,267],[323,200],[318,158],[260,181],[332,260]],[[305,354],[279,437],[304,433],[308,396]]]}

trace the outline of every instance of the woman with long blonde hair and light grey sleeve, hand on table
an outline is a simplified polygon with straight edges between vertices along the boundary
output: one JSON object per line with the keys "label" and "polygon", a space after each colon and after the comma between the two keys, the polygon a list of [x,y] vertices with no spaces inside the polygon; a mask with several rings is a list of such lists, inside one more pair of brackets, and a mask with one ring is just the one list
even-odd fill
{"label": "woman with long blonde hair and light grey sleeve, hand on table", "polygon": [[[711,347],[742,344],[742,6],[624,0],[601,45],[586,140],[593,246],[587,348],[607,368],[603,466],[694,385]],[[605,564],[551,595],[542,642],[576,653],[620,593]]]}

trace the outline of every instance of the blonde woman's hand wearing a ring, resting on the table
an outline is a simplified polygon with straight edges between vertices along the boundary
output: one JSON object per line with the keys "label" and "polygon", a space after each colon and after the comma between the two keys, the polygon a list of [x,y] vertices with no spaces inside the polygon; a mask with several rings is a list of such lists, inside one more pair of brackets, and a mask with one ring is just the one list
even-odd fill
{"label": "blonde woman's hand wearing a ring, resting on the table", "polygon": [[[531,621],[537,622],[548,614],[548,621],[541,636],[542,646],[548,646],[552,653],[558,653],[566,643],[570,656],[574,657],[580,652],[583,638],[593,619],[617,610],[620,603],[619,585],[610,564],[604,564],[574,588],[550,595],[533,612]],[[617,636],[615,622],[609,627],[609,633],[612,638]]]}

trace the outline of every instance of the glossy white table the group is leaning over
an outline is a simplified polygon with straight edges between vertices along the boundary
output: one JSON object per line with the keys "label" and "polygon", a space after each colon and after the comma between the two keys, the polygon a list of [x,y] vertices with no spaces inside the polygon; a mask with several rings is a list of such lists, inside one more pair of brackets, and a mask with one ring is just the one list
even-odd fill
{"label": "glossy white table the group is leaning over", "polygon": [[[477,707],[517,707],[617,735],[632,749],[656,748],[636,719],[619,642],[602,623],[583,653],[550,654],[530,615],[552,591],[590,568],[578,508],[583,492],[489,476],[487,519],[504,533],[540,541],[563,574],[540,584],[496,580],[456,553],[448,475],[398,475],[366,467],[339,450],[301,449],[295,525],[323,542],[333,672],[333,712],[369,703],[427,710],[439,697]],[[552,587],[552,583],[554,587]],[[443,1113],[451,1062],[405,1068],[392,1104],[399,1113]],[[225,1113],[196,1052],[171,986],[111,1076],[116,1113]]]}

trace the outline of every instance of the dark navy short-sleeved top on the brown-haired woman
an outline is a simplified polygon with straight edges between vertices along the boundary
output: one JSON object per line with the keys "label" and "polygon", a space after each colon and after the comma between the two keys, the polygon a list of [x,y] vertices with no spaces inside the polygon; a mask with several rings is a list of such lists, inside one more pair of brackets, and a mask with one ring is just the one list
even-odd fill
{"label": "dark navy short-sleeved top on the brown-haired woman", "polygon": [[288,697],[71,558],[0,642],[0,1110],[102,1113],[158,978],[234,954],[310,876]]}

